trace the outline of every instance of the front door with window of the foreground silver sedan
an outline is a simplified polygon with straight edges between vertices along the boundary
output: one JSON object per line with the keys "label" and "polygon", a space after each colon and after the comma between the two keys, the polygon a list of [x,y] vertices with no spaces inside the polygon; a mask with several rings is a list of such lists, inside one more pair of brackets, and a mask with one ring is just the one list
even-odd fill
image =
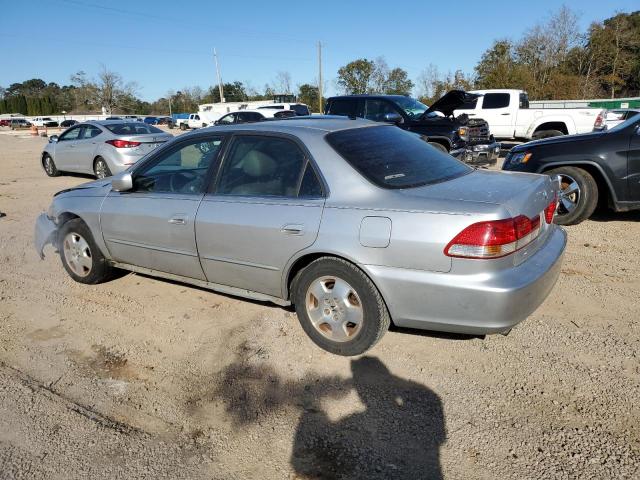
{"label": "front door with window of the foreground silver sedan", "polygon": [[130,191],[107,195],[100,226],[114,260],[204,280],[194,226],[223,139],[198,135],[163,148],[134,169]]}

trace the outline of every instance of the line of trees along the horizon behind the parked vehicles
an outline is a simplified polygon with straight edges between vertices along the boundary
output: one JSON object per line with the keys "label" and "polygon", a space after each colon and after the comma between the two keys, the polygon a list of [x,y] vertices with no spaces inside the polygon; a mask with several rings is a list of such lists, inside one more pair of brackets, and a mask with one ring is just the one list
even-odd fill
{"label": "line of trees along the horizon behind the parked vehicles", "polygon": [[[340,67],[335,86],[345,94],[414,93],[427,104],[451,89],[516,88],[532,100],[626,97],[640,95],[640,11],[617,13],[581,32],[578,15],[561,7],[520,39],[498,39],[480,57],[473,72],[442,73],[428,65],[416,78],[391,68],[383,57],[359,58]],[[324,87],[324,86],[323,86]],[[323,88],[326,91],[326,87]],[[261,90],[249,82],[224,84],[227,102],[271,100],[275,94],[296,94],[317,111],[316,82],[293,86],[288,72],[278,72]],[[166,114],[193,112],[202,103],[220,101],[217,85],[171,90],[153,102],[138,97],[138,86],[102,67],[96,78],[84,72],[70,84],[31,79],[0,87],[0,114],[52,115],[62,111],[90,113]]]}

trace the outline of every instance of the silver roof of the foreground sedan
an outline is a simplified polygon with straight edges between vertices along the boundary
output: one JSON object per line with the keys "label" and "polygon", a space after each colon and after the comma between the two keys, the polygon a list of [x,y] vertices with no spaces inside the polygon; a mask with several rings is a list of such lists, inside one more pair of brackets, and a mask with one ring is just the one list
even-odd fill
{"label": "silver roof of the foreground sedan", "polygon": [[339,115],[309,115],[304,117],[291,117],[269,120],[268,122],[216,125],[213,127],[196,130],[195,132],[193,132],[193,134],[202,130],[252,130],[281,133],[321,131],[324,133],[329,133],[339,130],[349,130],[352,128],[377,127],[383,125],[386,124],[381,124],[380,122],[373,122],[371,120],[365,120],[362,118],[349,118]]}

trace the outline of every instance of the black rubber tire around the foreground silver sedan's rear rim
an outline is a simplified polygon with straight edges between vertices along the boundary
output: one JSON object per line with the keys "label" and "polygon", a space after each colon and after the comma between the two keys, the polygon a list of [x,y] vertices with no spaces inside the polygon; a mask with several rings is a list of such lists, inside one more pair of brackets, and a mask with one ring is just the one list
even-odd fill
{"label": "black rubber tire around the foreground silver sedan's rear rim", "polygon": [[[316,328],[312,323],[307,308],[308,301],[314,303],[310,300],[314,298],[310,292],[310,287],[323,279],[328,284],[331,282],[330,278],[333,277],[345,282],[350,287],[351,290],[347,290],[349,294],[344,298],[352,298],[351,306],[358,308],[361,312],[360,326],[355,328],[349,326],[351,322],[348,322],[342,314],[345,305],[336,303],[335,297],[332,305],[315,299],[315,308],[322,309],[324,312],[333,309],[334,314],[340,315],[339,320],[342,322],[343,331],[353,332],[353,338],[348,338],[350,334],[347,333],[347,338],[343,341],[334,341],[328,338],[333,334],[333,329],[329,327],[329,323],[323,322]],[[333,292],[333,287],[331,287],[331,290],[325,291],[328,296],[333,295],[331,293]],[[302,329],[316,345],[336,355],[352,356],[366,352],[382,338],[391,323],[387,306],[373,282],[358,267],[340,258],[321,257],[298,272],[292,282],[292,300]],[[325,300],[331,301],[330,299]],[[329,316],[331,316],[331,313]],[[336,316],[333,318],[336,318]],[[328,322],[331,321],[328,320]],[[323,327],[325,328],[323,329]],[[327,327],[329,328],[328,331]],[[351,330],[349,330],[350,328]],[[321,330],[325,333],[321,333]]]}

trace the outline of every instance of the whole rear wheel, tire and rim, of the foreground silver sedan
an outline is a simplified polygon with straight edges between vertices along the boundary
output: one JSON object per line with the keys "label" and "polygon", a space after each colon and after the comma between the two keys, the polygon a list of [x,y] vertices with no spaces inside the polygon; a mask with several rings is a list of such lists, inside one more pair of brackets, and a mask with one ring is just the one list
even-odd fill
{"label": "whole rear wheel, tire and rim, of the foreground silver sedan", "polygon": [[303,330],[320,348],[360,355],[389,328],[387,306],[371,280],[355,265],[322,257],[293,281],[292,297]]}

